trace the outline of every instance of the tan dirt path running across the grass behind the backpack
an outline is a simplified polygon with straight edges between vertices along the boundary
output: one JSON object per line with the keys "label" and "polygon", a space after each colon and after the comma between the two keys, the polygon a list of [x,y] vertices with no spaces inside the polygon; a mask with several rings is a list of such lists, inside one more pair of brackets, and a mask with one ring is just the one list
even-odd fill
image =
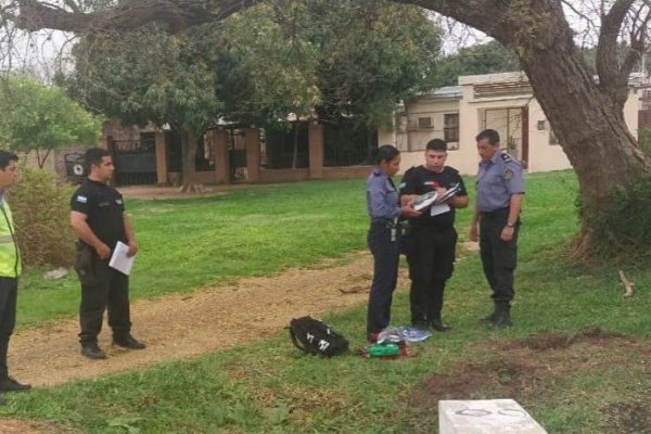
{"label": "tan dirt path running across the grass behind the backpack", "polygon": [[[133,303],[133,334],[148,348],[113,348],[104,326],[100,346],[107,353],[106,360],[79,355],[77,320],[26,330],[12,337],[9,366],[20,381],[43,386],[196,357],[273,334],[293,317],[319,316],[363,303],[371,270],[371,257],[365,253],[345,266],[322,263],[276,277],[247,278],[231,286]],[[403,286],[405,276],[400,279]]]}

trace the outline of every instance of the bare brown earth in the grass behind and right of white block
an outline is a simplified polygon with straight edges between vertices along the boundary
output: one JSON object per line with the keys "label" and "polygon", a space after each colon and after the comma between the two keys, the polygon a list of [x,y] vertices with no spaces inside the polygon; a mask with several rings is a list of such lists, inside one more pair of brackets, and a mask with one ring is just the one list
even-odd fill
{"label": "bare brown earth in the grass behind and right of white block", "polygon": [[[599,328],[578,334],[544,333],[522,340],[482,344],[486,362],[469,362],[451,372],[434,374],[409,397],[419,411],[436,412],[441,399],[512,398],[523,407],[549,399],[554,383],[572,372],[630,367],[649,374],[649,343]],[[608,429],[616,433],[651,433],[651,410],[636,401],[601,409]],[[640,431],[642,430],[642,431]],[[647,430],[647,431],[644,431]]]}

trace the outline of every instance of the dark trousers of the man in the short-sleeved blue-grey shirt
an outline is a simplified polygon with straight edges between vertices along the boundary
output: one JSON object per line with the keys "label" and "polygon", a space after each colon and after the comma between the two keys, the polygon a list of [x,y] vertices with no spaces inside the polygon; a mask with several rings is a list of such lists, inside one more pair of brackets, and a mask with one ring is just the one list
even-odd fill
{"label": "dark trousers of the man in the short-sleeved blue-grey shirt", "polygon": [[496,306],[510,306],[514,296],[513,270],[518,259],[518,233],[520,220],[513,228],[511,241],[502,241],[502,229],[507,226],[509,208],[481,213],[480,252],[484,275],[493,290]]}

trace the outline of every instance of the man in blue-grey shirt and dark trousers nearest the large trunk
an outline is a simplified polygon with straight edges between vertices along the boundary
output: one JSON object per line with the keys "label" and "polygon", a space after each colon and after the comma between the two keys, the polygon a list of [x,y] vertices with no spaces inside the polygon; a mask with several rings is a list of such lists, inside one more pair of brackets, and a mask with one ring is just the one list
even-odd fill
{"label": "man in blue-grey shirt and dark trousers nearest the large trunk", "polygon": [[[493,290],[495,310],[485,320],[489,326],[512,326],[513,270],[518,254],[520,210],[524,181],[520,162],[499,148],[499,133],[486,129],[476,137],[480,169],[477,201],[470,239],[480,241],[484,275]],[[478,224],[478,237],[477,237]]]}

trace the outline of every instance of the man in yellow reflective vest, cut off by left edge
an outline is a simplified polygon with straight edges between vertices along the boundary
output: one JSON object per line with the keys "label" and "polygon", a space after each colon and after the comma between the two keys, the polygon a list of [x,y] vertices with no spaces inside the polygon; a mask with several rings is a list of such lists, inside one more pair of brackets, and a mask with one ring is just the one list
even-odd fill
{"label": "man in yellow reflective vest, cut off by left edge", "polygon": [[18,179],[17,161],[15,154],[0,150],[0,392],[31,388],[29,384],[21,384],[9,376],[7,366],[9,339],[16,323],[18,276],[23,268],[13,218],[7,203],[7,191]]}

